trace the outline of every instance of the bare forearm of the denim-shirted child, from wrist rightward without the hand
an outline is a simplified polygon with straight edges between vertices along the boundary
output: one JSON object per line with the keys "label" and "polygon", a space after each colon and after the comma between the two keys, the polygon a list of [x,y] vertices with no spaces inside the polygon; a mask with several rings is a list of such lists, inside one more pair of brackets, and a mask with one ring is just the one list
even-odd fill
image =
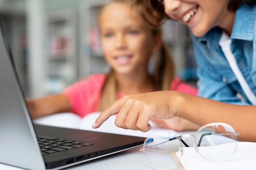
{"label": "bare forearm of the denim-shirted child, from wrist rightward without the hand", "polygon": [[188,94],[179,96],[176,116],[200,126],[212,122],[225,122],[240,133],[240,141],[256,142],[256,106],[232,105]]}

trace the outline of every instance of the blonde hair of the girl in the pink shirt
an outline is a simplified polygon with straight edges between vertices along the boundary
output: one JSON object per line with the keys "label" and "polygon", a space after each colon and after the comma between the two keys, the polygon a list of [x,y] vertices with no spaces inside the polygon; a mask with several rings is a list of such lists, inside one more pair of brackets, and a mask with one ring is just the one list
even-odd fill
{"label": "blonde hair of the girl in the pink shirt", "polygon": [[[124,2],[131,4],[133,6],[134,0],[111,0],[110,3]],[[162,33],[161,28],[152,28],[152,35],[157,36]],[[156,58],[155,67],[153,70],[153,83],[157,91],[160,90],[170,90],[171,81],[175,76],[175,65],[169,52],[168,48],[162,44],[159,49],[159,54]],[[118,98],[117,94],[117,78],[115,76],[115,71],[113,69],[107,75],[107,78],[101,89],[101,98],[99,102],[99,111],[103,111],[115,102]]]}

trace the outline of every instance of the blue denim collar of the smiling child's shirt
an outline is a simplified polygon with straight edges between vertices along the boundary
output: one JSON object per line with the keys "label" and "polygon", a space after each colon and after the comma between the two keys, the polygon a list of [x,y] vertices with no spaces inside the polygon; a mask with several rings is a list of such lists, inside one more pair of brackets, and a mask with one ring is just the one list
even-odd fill
{"label": "blue denim collar of the smiling child's shirt", "polygon": [[[254,38],[256,6],[249,7],[242,3],[236,11],[235,22],[231,33],[231,39],[243,39],[252,41]],[[218,42],[222,35],[222,29],[214,27],[202,37],[197,37],[197,41],[207,45],[209,49],[217,50]]]}

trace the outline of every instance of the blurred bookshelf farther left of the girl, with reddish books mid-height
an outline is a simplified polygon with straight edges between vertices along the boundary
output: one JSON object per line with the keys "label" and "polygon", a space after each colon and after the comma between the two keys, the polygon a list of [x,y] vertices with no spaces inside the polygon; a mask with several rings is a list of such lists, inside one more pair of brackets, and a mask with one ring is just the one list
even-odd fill
{"label": "blurred bookshelf farther left of the girl, with reddish books mid-height", "polygon": [[75,16],[71,9],[45,15],[45,92],[55,94],[74,83],[76,75]]}

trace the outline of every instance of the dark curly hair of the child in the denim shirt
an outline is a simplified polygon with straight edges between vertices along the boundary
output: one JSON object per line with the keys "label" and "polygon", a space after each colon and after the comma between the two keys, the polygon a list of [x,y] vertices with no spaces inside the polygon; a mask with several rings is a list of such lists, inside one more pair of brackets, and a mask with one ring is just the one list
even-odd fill
{"label": "dark curly hair of the child in the denim shirt", "polygon": [[[236,11],[240,4],[244,2],[249,6],[256,4],[256,0],[230,0],[227,9],[229,11]],[[164,19],[169,18],[164,11],[162,1],[159,0],[135,0],[135,6],[138,7],[141,16],[153,27],[162,25]]]}

